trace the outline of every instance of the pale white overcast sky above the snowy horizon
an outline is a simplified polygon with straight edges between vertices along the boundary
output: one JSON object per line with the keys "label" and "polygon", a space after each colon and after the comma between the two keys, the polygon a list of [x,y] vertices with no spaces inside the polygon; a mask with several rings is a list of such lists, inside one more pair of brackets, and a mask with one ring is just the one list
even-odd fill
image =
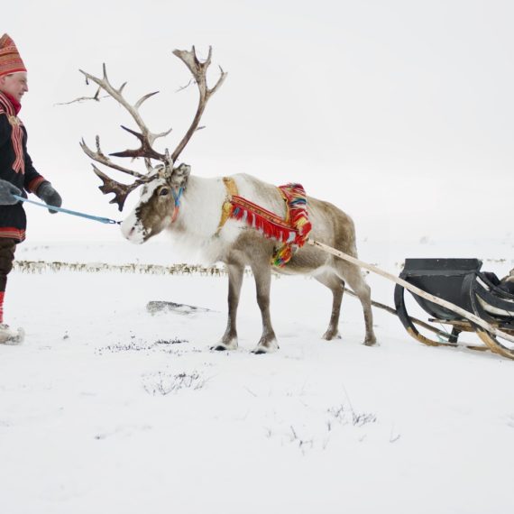
{"label": "pale white overcast sky above the snowy horizon", "polygon": [[[105,152],[135,146],[112,100],[55,106],[94,93],[78,69],[99,74],[105,61],[133,101],[160,90],[142,115],[153,131],[173,127],[172,150],[197,91],[176,93],[188,70],[171,50],[196,44],[206,55],[210,44],[211,83],[218,64],[229,75],[181,155],[197,175],[301,182],[352,215],[360,239],[512,234],[512,2],[47,0],[4,13],[1,31],[29,69],[29,151],[64,207],[119,218],[78,141],[99,133]],[[26,210],[32,241],[121,238]]]}

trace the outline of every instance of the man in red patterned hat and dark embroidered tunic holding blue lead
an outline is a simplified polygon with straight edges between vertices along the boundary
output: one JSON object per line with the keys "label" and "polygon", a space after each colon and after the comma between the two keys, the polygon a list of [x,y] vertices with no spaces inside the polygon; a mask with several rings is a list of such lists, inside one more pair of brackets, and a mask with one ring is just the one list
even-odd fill
{"label": "man in red patterned hat and dark embroidered tunic holding blue lead", "polygon": [[62,203],[50,182],[34,169],[27,153],[27,131],[18,113],[28,90],[27,69],[14,41],[4,34],[0,38],[0,344],[23,340],[23,330],[4,323],[7,275],[13,268],[16,244],[25,239],[27,225],[23,202],[13,195],[27,197],[25,191],[29,191],[49,206],[60,207]]}

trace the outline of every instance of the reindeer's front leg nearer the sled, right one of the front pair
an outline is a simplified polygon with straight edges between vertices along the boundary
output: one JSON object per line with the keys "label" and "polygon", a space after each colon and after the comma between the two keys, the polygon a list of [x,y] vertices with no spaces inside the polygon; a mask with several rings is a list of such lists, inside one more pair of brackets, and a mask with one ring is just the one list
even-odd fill
{"label": "reindeer's front leg nearer the sled, right one of the front pair", "polygon": [[255,287],[257,290],[257,304],[261,309],[262,315],[262,335],[261,340],[252,350],[252,353],[271,353],[279,349],[277,337],[271,326],[270,316],[270,289],[271,289],[271,266],[268,259],[252,263],[252,272],[255,277]]}

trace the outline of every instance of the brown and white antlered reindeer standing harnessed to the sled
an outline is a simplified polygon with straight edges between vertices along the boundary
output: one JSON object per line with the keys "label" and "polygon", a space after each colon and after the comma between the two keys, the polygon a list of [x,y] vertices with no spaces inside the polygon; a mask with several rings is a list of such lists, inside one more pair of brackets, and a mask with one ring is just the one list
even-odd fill
{"label": "brown and white antlered reindeer standing harnessed to the sled", "polygon": [[[285,202],[278,188],[247,174],[236,174],[230,178],[205,179],[191,175],[188,164],[180,163],[175,166],[180,152],[184,150],[192,134],[201,128],[198,124],[207,101],[221,87],[226,73],[220,68],[221,75],[215,87],[209,88],[207,87],[207,68],[211,63],[212,48],[209,48],[207,60],[203,62],[198,60],[195,47],[192,50],[174,50],[173,53],[190,70],[198,87],[199,101],[192,124],[171,155],[168,150],[160,153],[152,146],[157,138],[167,135],[170,131],[151,133],[139,113],[142,103],[155,93],[142,96],[138,102],[131,105],[122,93],[126,83],[119,89],[113,87],[107,78],[105,65],[103,78],[96,78],[85,71],[80,71],[95,82],[99,89],[104,89],[124,106],[141,131],[138,133],[122,125],[124,130],[133,133],[139,139],[141,147],[110,155],[133,159],[143,158],[147,173],[138,173],[112,161],[101,151],[98,136],[96,136],[96,151],[91,150],[84,140],[80,144],[92,160],[135,177],[133,184],[121,184],[110,179],[92,163],[96,175],[103,181],[103,185],[99,187],[100,190],[104,194],[115,193],[110,203],[117,204],[120,211],[123,210],[128,194],[134,188],[142,186],[142,194],[136,207],[121,225],[126,239],[131,243],[141,244],[161,232],[167,232],[175,236],[175,240],[179,243],[200,247],[209,261],[225,263],[228,271],[228,319],[225,334],[217,344],[211,347],[213,350],[235,350],[238,346],[237,307],[243,271],[245,266],[250,266],[255,279],[257,303],[262,315],[261,339],[252,353],[271,353],[279,348],[270,316],[271,255],[277,243],[242,221],[227,219],[225,206],[231,195],[237,192],[240,197],[245,197],[275,215],[284,217],[286,216]],[[158,163],[153,165],[152,160]],[[356,257],[355,229],[350,216],[334,205],[314,197],[307,197],[307,206],[312,224],[312,237]],[[277,268],[276,271],[286,274],[309,274],[332,291],[332,313],[328,328],[323,335],[327,341],[340,337],[339,315],[344,287],[348,284],[363,306],[366,331],[364,344],[375,344],[370,288],[363,280],[358,266],[337,259],[316,247],[306,245],[298,249],[283,269]]]}

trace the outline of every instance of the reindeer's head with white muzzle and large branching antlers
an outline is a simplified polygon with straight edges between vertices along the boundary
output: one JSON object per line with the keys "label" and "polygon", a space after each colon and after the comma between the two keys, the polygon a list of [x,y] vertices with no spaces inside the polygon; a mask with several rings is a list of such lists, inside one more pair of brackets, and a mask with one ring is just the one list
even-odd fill
{"label": "reindeer's head with white muzzle and large branching antlers", "polygon": [[[209,47],[207,60],[200,62],[197,58],[195,47],[190,51],[188,50],[173,50],[180,60],[182,60],[193,75],[193,79],[197,84],[199,91],[199,100],[197,106],[197,113],[193,119],[192,124],[188,128],[188,132],[184,135],[179,145],[170,155],[166,150],[164,153],[155,151],[152,148],[153,142],[159,138],[168,135],[171,129],[165,133],[151,133],[146,124],[142,121],[139,114],[139,107],[142,103],[155,95],[157,92],[149,93],[142,96],[134,105],[129,104],[123,96],[123,89],[126,82],[116,89],[111,85],[106,74],[106,65],[104,65],[104,77],[96,78],[85,71],[80,70],[88,79],[95,82],[99,88],[106,90],[106,92],[115,98],[124,108],[132,115],[133,120],[139,127],[141,132],[135,132],[122,125],[122,128],[135,135],[140,143],[140,148],[136,150],[125,150],[111,153],[110,156],[115,157],[131,157],[132,159],[143,158],[146,164],[147,173],[142,174],[134,170],[129,170],[116,164],[108,156],[106,156],[100,149],[100,140],[96,136],[96,151],[92,151],[82,140],[80,146],[87,155],[96,162],[100,162],[113,168],[115,170],[123,171],[135,177],[135,181],[130,184],[121,184],[113,179],[110,179],[103,171],[98,170],[93,164],[93,170],[96,175],[102,179],[103,185],[100,190],[104,193],[115,193],[115,197],[109,203],[117,204],[119,210],[123,210],[126,197],[133,191],[133,189],[143,186],[141,198],[133,209],[133,212],[124,220],[122,224],[122,232],[124,236],[133,243],[144,243],[151,236],[159,234],[164,228],[169,226],[175,221],[178,214],[180,197],[187,187],[188,175],[190,167],[187,164],[180,164],[175,167],[175,162],[179,158],[179,154],[186,145],[189,139],[197,130],[200,119],[203,115],[207,101],[218,87],[220,87],[225,80],[226,73],[220,68],[221,76],[218,78],[215,87],[209,89],[207,87],[207,68],[211,63],[212,48]],[[97,96],[97,95],[96,95]],[[159,161],[157,165],[152,164],[153,161]]]}

